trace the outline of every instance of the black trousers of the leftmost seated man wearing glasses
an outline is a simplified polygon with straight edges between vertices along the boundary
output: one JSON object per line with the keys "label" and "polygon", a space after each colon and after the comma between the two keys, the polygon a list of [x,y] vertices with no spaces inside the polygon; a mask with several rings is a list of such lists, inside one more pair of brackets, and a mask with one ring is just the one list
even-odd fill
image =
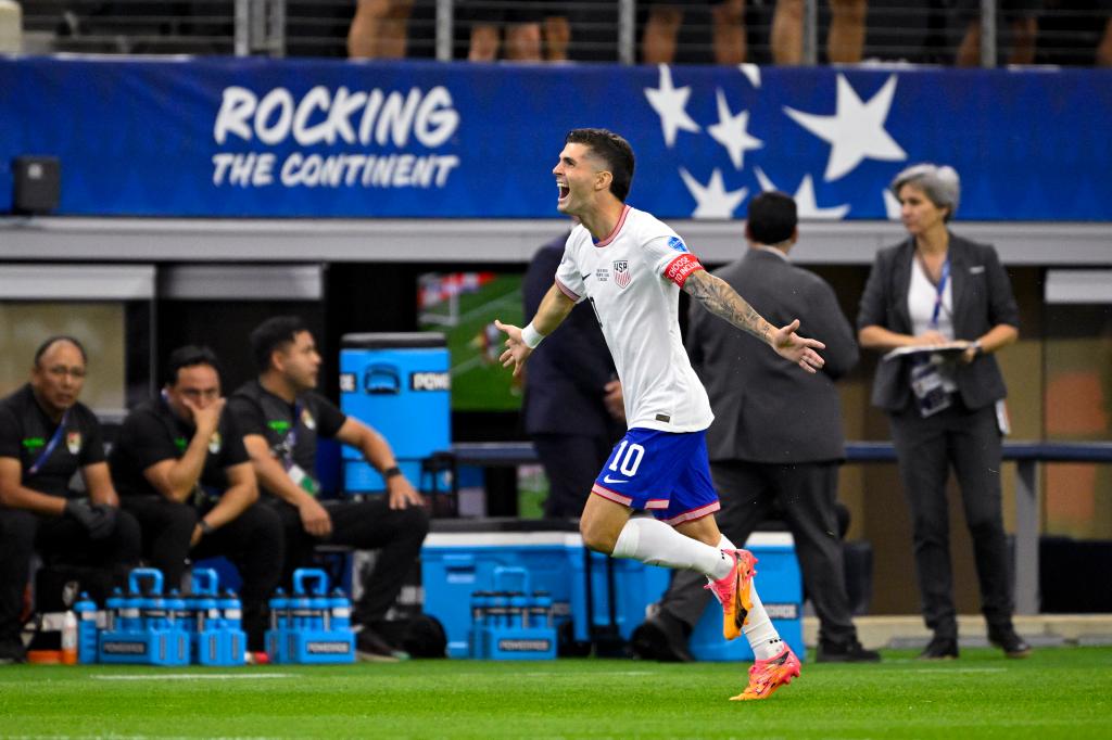
{"label": "black trousers of the leftmost seated man wearing glasses", "polygon": [[128,571],[139,563],[139,523],[128,512],[118,511],[111,534],[92,540],[68,517],[0,509],[0,642],[19,638],[19,613],[34,552],[48,564],[102,568],[122,586]]}

